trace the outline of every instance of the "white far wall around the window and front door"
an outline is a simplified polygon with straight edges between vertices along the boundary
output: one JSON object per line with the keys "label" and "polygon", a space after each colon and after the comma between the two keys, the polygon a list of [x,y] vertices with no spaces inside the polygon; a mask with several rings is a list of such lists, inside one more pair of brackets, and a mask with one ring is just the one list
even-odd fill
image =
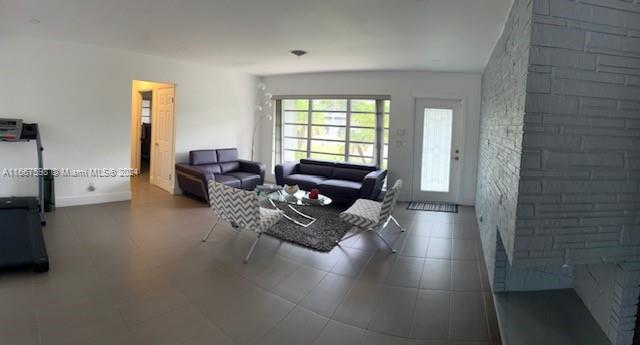
{"label": "white far wall around the window and front door", "polygon": [[[461,203],[473,205],[480,124],[479,74],[383,71],[294,74],[263,79],[268,91],[274,95],[390,95],[389,175],[391,179],[402,178],[405,181],[400,196],[404,200],[410,198],[411,190],[415,99],[463,99],[466,105],[466,132],[462,152],[464,167]],[[265,122],[261,129],[259,157],[265,163],[271,161],[272,126],[272,123]],[[273,174],[270,164],[267,169]]]}

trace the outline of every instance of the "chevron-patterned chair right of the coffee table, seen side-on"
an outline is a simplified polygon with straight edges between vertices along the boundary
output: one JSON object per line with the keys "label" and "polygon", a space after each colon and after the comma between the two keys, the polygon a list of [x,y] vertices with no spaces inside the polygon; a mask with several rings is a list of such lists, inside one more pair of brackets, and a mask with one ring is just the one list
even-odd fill
{"label": "chevron-patterned chair right of the coffee table, seen side-on", "polygon": [[338,243],[357,236],[365,231],[372,231],[382,240],[382,242],[384,242],[392,253],[395,253],[396,250],[393,249],[391,244],[389,244],[384,237],[382,237],[382,232],[387,228],[389,222],[395,223],[400,231],[404,232],[402,226],[400,226],[398,221],[393,217],[393,215],[391,215],[396,204],[400,188],[402,188],[402,180],[397,180],[393,187],[387,190],[382,202],[358,199],[351,207],[349,207],[349,209],[340,213],[341,219],[351,223],[359,230],[341,239]]}

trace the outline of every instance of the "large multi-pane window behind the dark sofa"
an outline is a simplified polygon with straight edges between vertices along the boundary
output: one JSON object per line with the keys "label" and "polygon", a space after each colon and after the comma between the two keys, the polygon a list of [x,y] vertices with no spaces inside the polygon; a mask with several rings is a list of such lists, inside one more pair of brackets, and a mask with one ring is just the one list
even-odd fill
{"label": "large multi-pane window behind the dark sofa", "polygon": [[388,165],[391,101],[282,99],[282,157]]}

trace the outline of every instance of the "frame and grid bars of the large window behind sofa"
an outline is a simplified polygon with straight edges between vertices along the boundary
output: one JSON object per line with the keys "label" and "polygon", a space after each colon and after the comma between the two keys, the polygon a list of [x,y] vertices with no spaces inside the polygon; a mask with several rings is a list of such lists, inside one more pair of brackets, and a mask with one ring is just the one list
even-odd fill
{"label": "frame and grid bars of the large window behind sofa", "polygon": [[[280,96],[274,97],[276,100],[276,109],[278,110],[277,116],[280,117],[281,130],[279,133],[281,147],[280,157],[284,162],[286,161],[286,153],[294,152],[295,153],[304,153],[305,157],[310,158],[312,154],[316,155],[329,155],[329,156],[342,156],[341,160],[336,160],[340,162],[350,162],[350,159],[362,159],[369,160],[371,163],[375,164],[377,167],[383,167],[383,163],[385,166],[388,165],[388,148],[387,148],[387,156],[385,157],[384,149],[385,146],[388,146],[389,143],[384,142],[384,133],[385,130],[389,130],[388,127],[385,127],[385,116],[389,116],[389,120],[391,119],[391,112],[385,112],[385,102],[389,102],[389,107],[391,106],[391,97],[390,96]],[[306,109],[288,109],[285,108],[285,101],[297,101],[297,100],[305,100],[308,102]],[[313,103],[314,100],[344,100],[346,101],[346,108],[343,110],[314,110]],[[374,111],[354,111],[351,109],[352,101],[354,100],[369,100],[375,102]],[[307,119],[306,123],[296,123],[296,121],[287,122],[286,121],[286,113],[306,113]],[[313,123],[313,115],[314,113],[324,113],[324,114],[345,114],[346,122],[345,125],[335,125],[335,124],[314,124]],[[375,124],[372,127],[361,126],[361,125],[352,125],[352,115],[353,114],[373,114],[375,116]],[[286,129],[287,126],[306,126],[307,132],[306,137],[302,137],[299,135],[291,135],[287,136]],[[345,135],[344,140],[342,139],[321,139],[313,137],[313,128],[314,127],[323,127],[323,128],[338,128],[344,129]],[[366,129],[373,130],[375,132],[373,142],[368,141],[352,141],[351,140],[351,130],[352,129]],[[306,150],[298,150],[298,149],[289,149],[286,146],[286,141],[289,140],[304,140],[306,141]],[[312,142],[335,142],[335,143],[344,143],[344,153],[327,153],[327,152],[319,152],[312,150]],[[365,144],[372,145],[374,147],[372,156],[363,156],[360,155],[359,152],[354,152],[356,154],[352,154],[351,144]],[[386,162],[385,162],[386,161]],[[355,162],[351,162],[355,163]],[[365,163],[367,164],[367,163]]]}

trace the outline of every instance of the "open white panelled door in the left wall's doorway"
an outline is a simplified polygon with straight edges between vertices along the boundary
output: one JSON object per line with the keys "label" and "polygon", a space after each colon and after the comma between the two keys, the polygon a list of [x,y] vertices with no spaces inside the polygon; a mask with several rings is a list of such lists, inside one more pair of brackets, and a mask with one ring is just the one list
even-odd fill
{"label": "open white panelled door in the left wall's doorway", "polygon": [[173,193],[174,88],[153,90],[149,181]]}

